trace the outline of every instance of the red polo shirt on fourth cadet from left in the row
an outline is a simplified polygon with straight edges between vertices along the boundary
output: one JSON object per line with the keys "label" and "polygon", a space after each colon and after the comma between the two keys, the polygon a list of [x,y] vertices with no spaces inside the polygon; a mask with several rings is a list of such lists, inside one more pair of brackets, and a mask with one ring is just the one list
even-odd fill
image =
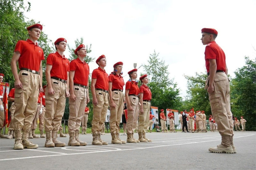
{"label": "red polo shirt on fourth cadet from left in the row", "polygon": [[108,90],[108,74],[100,67],[92,71],[92,79],[97,79],[95,88]]}

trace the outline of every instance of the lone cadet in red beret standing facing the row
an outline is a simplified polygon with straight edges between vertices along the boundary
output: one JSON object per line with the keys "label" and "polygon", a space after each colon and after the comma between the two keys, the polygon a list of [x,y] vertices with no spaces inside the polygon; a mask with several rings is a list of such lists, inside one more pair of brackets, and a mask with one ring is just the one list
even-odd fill
{"label": "lone cadet in red beret standing facing the row", "polygon": [[[216,118],[218,130],[222,137],[220,145],[209,148],[210,152],[234,153],[236,148],[233,145],[233,120],[230,109],[230,89],[228,80],[228,68],[224,51],[215,42],[218,32],[212,28],[202,29],[202,43],[205,47],[205,65],[208,78],[205,89],[209,93],[212,116]],[[220,102],[214,102],[214,101]],[[215,109],[218,108],[218,109]]]}

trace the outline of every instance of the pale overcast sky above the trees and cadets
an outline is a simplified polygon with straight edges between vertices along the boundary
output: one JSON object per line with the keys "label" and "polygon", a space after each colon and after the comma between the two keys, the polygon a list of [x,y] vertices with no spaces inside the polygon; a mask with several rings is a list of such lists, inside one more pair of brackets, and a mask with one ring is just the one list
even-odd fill
{"label": "pale overcast sky above the trees and cadets", "polygon": [[[90,56],[106,55],[107,73],[113,71],[113,64],[123,61],[126,74],[133,63],[137,67],[147,63],[149,54],[156,50],[169,65],[170,79],[178,83],[182,97],[187,90],[183,75],[206,73],[202,28],[219,32],[216,42],[226,54],[231,76],[244,65],[244,56],[256,56],[255,0],[29,2],[31,11],[25,16],[40,21],[49,39],[54,42],[63,37],[75,47],[75,39],[83,37],[85,45],[92,44]],[[68,50],[65,55],[68,57]],[[95,61],[89,66],[91,72],[98,67]],[[142,67],[140,73],[145,73]]]}

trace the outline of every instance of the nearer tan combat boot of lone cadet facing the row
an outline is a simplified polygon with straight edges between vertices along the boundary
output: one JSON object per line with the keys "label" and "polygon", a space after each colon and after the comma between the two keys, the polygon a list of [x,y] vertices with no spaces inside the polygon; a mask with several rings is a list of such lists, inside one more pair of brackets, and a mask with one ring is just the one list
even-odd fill
{"label": "nearer tan combat boot of lone cadet facing the row", "polygon": [[215,148],[209,148],[209,152],[214,153],[234,153],[229,142],[229,135],[221,135],[221,144]]}

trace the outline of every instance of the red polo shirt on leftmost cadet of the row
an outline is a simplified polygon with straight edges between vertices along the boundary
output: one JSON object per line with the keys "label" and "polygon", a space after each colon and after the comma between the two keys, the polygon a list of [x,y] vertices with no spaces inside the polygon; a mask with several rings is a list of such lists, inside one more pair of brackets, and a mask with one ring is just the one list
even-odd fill
{"label": "red polo shirt on leftmost cadet of the row", "polygon": [[20,40],[15,46],[15,51],[20,52],[19,68],[28,68],[39,71],[41,60],[44,60],[44,51],[36,42],[36,45],[30,39]]}

